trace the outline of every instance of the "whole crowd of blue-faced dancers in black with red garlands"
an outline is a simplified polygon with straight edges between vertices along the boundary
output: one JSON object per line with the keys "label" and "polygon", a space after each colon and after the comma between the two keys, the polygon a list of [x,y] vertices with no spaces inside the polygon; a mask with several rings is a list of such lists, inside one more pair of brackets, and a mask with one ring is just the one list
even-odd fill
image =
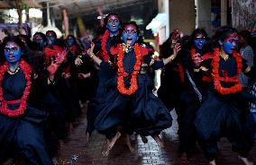
{"label": "whole crowd of blue-faced dancers in black with red garlands", "polygon": [[32,40],[8,36],[1,44],[0,162],[53,164],[58,143],[65,143],[87,103],[85,143],[94,131],[105,135],[104,156],[121,135],[131,152],[133,134],[143,143],[151,136],[163,148],[160,133],[172,125],[169,111],[175,109],[182,162],[188,163],[187,153],[198,143],[215,165],[217,143],[227,137],[233,152],[251,165],[256,71],[249,39],[230,27],[212,38],[203,29],[190,36],[173,30],[155,57],[138,25],[115,13],[105,17],[89,48],[72,35],[57,39],[52,30]]}

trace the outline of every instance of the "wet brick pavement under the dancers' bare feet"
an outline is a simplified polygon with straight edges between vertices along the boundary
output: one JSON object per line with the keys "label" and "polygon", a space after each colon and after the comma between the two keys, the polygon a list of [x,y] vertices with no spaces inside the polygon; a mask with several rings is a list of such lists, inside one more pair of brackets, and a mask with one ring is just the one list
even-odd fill
{"label": "wet brick pavement under the dancers' bare feet", "polygon": [[[56,164],[59,165],[178,165],[180,155],[178,154],[178,124],[175,111],[171,111],[173,126],[161,133],[161,139],[165,145],[160,149],[151,137],[148,143],[142,143],[140,136],[132,135],[132,144],[135,151],[129,151],[121,137],[107,157],[101,152],[105,147],[105,137],[94,133],[88,143],[86,142],[87,118],[86,113],[80,118],[79,124],[69,135],[67,143],[61,145],[59,155],[56,157]],[[197,147],[189,155],[191,165],[206,165],[202,151]],[[256,162],[256,146],[254,145],[250,159]],[[219,165],[242,165],[236,153],[231,151],[231,145],[226,139],[219,143],[219,152],[216,163]],[[184,164],[184,163],[183,163]]]}

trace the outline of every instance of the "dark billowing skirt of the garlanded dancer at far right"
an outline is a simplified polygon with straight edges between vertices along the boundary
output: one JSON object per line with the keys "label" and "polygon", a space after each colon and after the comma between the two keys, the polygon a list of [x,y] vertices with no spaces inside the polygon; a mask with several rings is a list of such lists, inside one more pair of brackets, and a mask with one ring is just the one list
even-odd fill
{"label": "dark billowing skirt of the garlanded dancer at far right", "polygon": [[238,143],[249,143],[253,139],[250,128],[251,113],[239,105],[242,98],[237,95],[223,96],[207,91],[206,101],[197,111],[195,126],[203,141],[217,141],[227,136]]}

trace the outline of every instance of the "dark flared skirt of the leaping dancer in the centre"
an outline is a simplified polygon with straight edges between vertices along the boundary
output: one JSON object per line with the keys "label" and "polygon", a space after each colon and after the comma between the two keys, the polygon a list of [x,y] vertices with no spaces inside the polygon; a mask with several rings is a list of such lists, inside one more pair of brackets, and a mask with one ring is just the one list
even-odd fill
{"label": "dark flared skirt of the leaping dancer in the centre", "polygon": [[169,110],[151,93],[149,76],[139,74],[137,81],[138,90],[129,96],[116,89],[116,76],[108,82],[110,91],[96,107],[99,113],[95,126],[99,133],[111,138],[116,133],[114,128],[123,126],[130,133],[158,135],[172,125]]}

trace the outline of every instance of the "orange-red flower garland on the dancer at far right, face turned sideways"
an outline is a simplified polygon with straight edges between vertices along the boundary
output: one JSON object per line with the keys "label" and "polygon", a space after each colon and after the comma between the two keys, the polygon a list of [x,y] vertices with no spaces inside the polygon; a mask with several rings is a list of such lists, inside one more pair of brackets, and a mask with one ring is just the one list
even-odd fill
{"label": "orange-red flower garland on the dancer at far right, face turned sideways", "polygon": [[[219,65],[220,65],[220,58],[221,58],[221,52],[219,48],[215,49],[214,52],[214,59],[213,59],[213,76],[214,76],[214,84],[215,84],[215,90],[220,92],[221,94],[232,94],[239,91],[242,91],[242,84],[239,81],[238,75],[242,73],[242,57],[237,53],[233,52],[233,57],[236,61],[237,65],[237,73],[233,77],[228,77],[225,75],[224,77],[221,77],[219,74]],[[234,85],[230,88],[225,88],[222,86],[221,82],[224,83],[234,83]]]}

